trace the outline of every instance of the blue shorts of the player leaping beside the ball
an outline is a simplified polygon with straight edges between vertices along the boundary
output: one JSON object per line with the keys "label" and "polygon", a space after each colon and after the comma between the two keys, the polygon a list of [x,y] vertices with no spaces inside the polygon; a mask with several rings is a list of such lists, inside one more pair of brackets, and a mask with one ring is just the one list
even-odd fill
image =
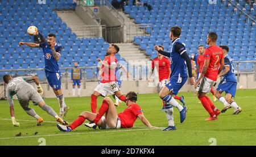
{"label": "blue shorts of the player leaping beside the ball", "polygon": [[59,90],[61,88],[60,73],[52,73],[46,71],[46,78],[48,80],[49,86],[52,88],[55,90]]}

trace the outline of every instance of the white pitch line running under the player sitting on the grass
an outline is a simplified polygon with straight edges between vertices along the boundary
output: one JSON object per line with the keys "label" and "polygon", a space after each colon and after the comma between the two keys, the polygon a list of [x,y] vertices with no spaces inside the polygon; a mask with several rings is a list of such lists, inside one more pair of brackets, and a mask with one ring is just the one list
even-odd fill
{"label": "white pitch line running under the player sitting on the grass", "polygon": [[[161,129],[161,128],[156,128]],[[19,138],[38,138],[38,137],[52,137],[52,136],[61,136],[61,135],[81,135],[81,134],[98,134],[98,133],[116,133],[116,132],[127,132],[127,131],[138,131],[138,130],[155,130],[155,129],[122,129],[122,130],[115,130],[115,131],[96,131],[96,132],[89,132],[89,133],[67,133],[67,134],[48,134],[48,135],[34,135],[34,136],[25,136],[25,137],[5,137],[1,139],[19,139]]]}

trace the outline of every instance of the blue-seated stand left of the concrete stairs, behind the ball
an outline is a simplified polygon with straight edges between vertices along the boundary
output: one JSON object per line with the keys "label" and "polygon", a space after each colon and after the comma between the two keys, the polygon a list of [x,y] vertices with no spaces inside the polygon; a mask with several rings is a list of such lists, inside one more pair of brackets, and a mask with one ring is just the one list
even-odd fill
{"label": "blue-seated stand left of the concrete stairs, behind the ball", "polygon": [[[19,41],[33,42],[33,37],[27,35],[29,26],[38,27],[45,37],[50,32],[56,34],[57,43],[63,46],[60,67],[72,67],[74,61],[79,61],[80,66],[96,66],[96,58],[104,58],[109,43],[102,37],[77,38],[55,11],[75,10],[75,7],[76,3],[72,0],[47,0],[43,5],[29,0],[1,1],[1,69],[44,67],[42,49],[18,45]],[[120,58],[119,54],[117,56]],[[91,74],[88,73],[89,77],[92,77]]]}

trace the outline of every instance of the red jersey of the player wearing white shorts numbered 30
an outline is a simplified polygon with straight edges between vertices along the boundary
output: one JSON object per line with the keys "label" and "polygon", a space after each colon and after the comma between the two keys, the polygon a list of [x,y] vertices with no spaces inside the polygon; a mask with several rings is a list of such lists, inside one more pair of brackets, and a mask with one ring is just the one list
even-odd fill
{"label": "red jersey of the player wearing white shorts numbered 30", "polygon": [[[117,58],[114,56],[106,56],[104,63],[108,65],[115,65],[117,67]],[[101,83],[109,83],[112,81],[117,82],[117,78],[115,77],[115,69],[109,69],[109,67],[101,66]]]}

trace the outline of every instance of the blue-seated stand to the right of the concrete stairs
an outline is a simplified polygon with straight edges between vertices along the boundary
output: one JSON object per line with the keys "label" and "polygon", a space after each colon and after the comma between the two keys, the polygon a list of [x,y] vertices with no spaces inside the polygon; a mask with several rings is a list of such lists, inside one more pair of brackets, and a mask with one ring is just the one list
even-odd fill
{"label": "blue-seated stand to the right of the concrete stairs", "polygon": [[[210,5],[208,1],[167,1],[142,0],[153,6],[148,11],[144,6],[125,6],[125,13],[135,19],[136,23],[151,23],[151,36],[135,36],[134,43],[146,50],[146,54],[156,57],[154,45],[164,45],[170,50],[170,27],[180,26],[183,29],[181,39],[185,41],[188,53],[197,53],[198,45],[206,45],[209,31],[217,32],[218,45],[228,45],[229,56],[234,61],[256,60],[255,53],[255,24],[247,20],[240,11],[228,1],[217,1],[218,5]],[[247,14],[255,17],[255,5],[247,5],[244,1],[234,1],[246,10]],[[148,29],[150,31],[150,29]],[[250,69],[251,66],[245,69]]]}

